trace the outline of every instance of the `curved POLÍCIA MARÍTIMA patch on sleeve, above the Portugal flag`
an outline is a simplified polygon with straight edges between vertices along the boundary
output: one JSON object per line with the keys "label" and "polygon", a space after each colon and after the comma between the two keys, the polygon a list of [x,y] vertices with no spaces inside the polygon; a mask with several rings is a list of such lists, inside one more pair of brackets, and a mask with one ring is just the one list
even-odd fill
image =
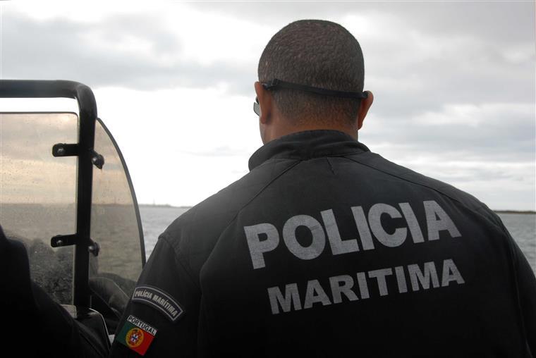
{"label": "curved POL\u00cdCIA MAR\u00cdTIMA patch on sleeve, above the Portugal flag", "polygon": [[169,293],[150,285],[135,288],[132,294],[132,301],[148,304],[156,308],[171,322],[176,322],[184,313],[184,309]]}

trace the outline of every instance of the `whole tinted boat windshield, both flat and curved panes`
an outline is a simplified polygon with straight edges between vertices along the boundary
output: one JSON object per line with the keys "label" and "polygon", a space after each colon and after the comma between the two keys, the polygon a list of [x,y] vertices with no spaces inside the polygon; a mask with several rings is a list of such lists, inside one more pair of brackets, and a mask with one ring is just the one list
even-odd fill
{"label": "whole tinted boat windshield, both flat and curved panes", "polygon": [[[55,157],[52,147],[78,143],[78,125],[76,113],[0,113],[0,225],[25,244],[32,280],[61,304],[73,303],[74,246],[53,248],[51,238],[76,233],[78,157]],[[93,167],[90,237],[99,250],[90,254],[90,287],[111,284],[128,297],[145,262],[138,206],[122,156],[98,118],[95,152],[104,166]]]}

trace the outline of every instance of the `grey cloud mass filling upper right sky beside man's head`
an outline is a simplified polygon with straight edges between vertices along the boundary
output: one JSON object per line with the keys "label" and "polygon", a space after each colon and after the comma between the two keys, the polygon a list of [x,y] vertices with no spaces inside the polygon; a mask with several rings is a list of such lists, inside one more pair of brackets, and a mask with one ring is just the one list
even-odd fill
{"label": "grey cloud mass filling upper right sky beside man's head", "polygon": [[[392,16],[398,23],[386,30],[385,38],[363,37],[365,86],[384,97],[390,106],[383,114],[415,113],[439,109],[444,101],[533,101],[535,69],[533,4],[529,3],[448,3],[396,2],[358,3],[195,3],[212,13],[229,13],[271,27],[282,27],[298,18],[334,18],[346,14]],[[298,14],[298,16],[296,16]],[[279,24],[279,25],[276,25]],[[414,39],[397,37],[397,26],[428,38],[436,38],[441,50],[438,58],[420,58],[420,44]],[[276,30],[274,30],[275,32]],[[410,34],[408,34],[410,35]],[[396,38],[398,42],[395,42]],[[451,47],[451,39],[465,39],[465,47]],[[506,58],[516,49],[528,51],[520,63]],[[404,62],[401,55],[410,56]],[[407,60],[407,59],[406,59]],[[384,78],[392,84],[374,87],[367,77]],[[418,88],[411,90],[414,82]],[[413,103],[413,105],[412,105]],[[391,109],[396,106],[396,109]],[[419,110],[416,110],[419,111]]]}

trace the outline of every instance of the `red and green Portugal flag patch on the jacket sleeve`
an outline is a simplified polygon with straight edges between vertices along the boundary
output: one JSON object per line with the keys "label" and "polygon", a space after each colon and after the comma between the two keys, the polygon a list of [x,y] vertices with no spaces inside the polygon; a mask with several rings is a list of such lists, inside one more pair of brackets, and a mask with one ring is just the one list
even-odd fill
{"label": "red and green Portugal flag patch on the jacket sleeve", "polygon": [[125,325],[116,335],[116,341],[126,345],[134,352],[145,355],[157,330],[135,316],[128,316]]}

